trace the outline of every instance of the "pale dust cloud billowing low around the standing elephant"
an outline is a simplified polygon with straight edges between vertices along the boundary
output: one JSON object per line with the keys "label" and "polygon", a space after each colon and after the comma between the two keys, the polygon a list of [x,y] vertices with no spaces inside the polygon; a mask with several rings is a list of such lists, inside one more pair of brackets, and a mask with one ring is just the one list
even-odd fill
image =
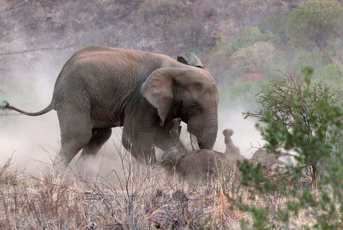
{"label": "pale dust cloud billowing low around the standing elephant", "polygon": [[[11,83],[9,83],[8,87],[4,88],[1,99],[6,99],[12,105],[25,111],[39,111],[45,108],[51,100],[58,72],[58,68],[49,67],[49,63],[44,61],[40,66],[35,66],[31,72],[17,69],[13,72],[14,79],[25,76],[30,79],[30,85],[27,86],[26,80],[16,83],[15,87],[10,87]],[[250,158],[252,152],[252,150],[248,150],[250,142],[257,146],[258,142],[261,143],[261,137],[254,126],[255,122],[244,120],[241,111],[243,109],[239,107],[224,108],[224,105],[220,105],[219,132],[214,150],[225,151],[222,130],[232,128],[234,144],[240,148],[245,157]],[[20,171],[25,170],[27,173],[47,171],[49,168],[47,166],[51,162],[50,158],[56,155],[60,149],[60,130],[56,111],[52,110],[38,117],[18,115],[15,111],[0,111],[0,114],[13,114],[0,116],[0,159],[4,161],[14,154],[15,166]],[[187,148],[191,149],[187,125],[183,124],[182,126],[180,138]],[[120,171],[121,161],[118,152],[123,151],[121,135],[121,128],[113,128],[110,140],[105,143],[98,155],[87,160],[85,166],[87,173],[108,175],[113,169]],[[121,150],[118,151],[119,149]],[[157,150],[156,155],[157,160],[160,160],[162,151]]]}

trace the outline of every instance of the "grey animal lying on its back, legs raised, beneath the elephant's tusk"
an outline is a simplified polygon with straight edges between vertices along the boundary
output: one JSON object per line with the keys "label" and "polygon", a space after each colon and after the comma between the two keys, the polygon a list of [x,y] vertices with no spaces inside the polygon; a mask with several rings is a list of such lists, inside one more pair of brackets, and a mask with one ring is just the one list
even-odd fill
{"label": "grey animal lying on its back, legs raised, beneath the elephant's tusk", "polygon": [[196,179],[200,177],[206,179],[214,173],[221,172],[225,167],[232,167],[237,161],[246,159],[231,140],[232,129],[223,131],[226,144],[225,153],[207,149],[188,152],[179,140],[180,122],[180,119],[172,121],[169,150],[163,153],[160,162],[168,172],[176,172],[181,178]]}

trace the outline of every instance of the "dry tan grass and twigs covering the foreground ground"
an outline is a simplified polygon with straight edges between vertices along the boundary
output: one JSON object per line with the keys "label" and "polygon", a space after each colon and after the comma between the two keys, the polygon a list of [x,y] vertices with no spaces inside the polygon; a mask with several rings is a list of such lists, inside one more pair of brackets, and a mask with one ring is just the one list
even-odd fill
{"label": "dry tan grass and twigs covering the foreground ground", "polygon": [[[0,229],[240,229],[240,220],[252,217],[238,200],[268,208],[270,220],[286,201],[279,194],[250,200],[236,169],[189,183],[122,157],[123,176],[114,170],[119,182],[113,183],[113,177],[86,180],[70,172],[33,177],[11,170],[11,160],[0,169]],[[299,213],[289,227],[304,222],[311,215]]]}

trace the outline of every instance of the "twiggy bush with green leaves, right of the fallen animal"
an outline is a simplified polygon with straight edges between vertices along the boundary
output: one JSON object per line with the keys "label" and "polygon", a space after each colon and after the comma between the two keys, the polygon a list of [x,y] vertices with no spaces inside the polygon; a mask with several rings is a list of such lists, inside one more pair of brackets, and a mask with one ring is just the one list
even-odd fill
{"label": "twiggy bush with green leaves, right of the fallen animal", "polygon": [[339,144],[332,139],[337,134],[331,137],[328,134],[332,126],[342,127],[342,115],[332,121],[331,112],[337,109],[342,114],[343,92],[330,89],[321,79],[311,83],[312,68],[303,68],[302,73],[304,77],[289,74],[272,81],[268,92],[258,95],[260,111],[244,115],[268,123],[269,126],[260,127],[268,141],[266,147],[275,153],[284,150],[297,153],[298,166],[311,167],[312,182],[316,186],[318,162],[330,156],[332,145]]}

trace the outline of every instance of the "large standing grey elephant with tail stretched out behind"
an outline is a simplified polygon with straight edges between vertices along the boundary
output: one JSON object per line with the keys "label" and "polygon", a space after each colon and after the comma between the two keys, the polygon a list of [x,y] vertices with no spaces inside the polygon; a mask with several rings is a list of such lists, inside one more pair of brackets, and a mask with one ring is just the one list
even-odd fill
{"label": "large standing grey elephant with tail stretched out behind", "polygon": [[[153,146],[168,148],[171,121],[181,118],[201,149],[212,149],[218,131],[218,91],[211,74],[173,58],[144,51],[87,47],[76,52],[56,79],[51,103],[61,130],[59,159],[81,150],[94,155],[123,126],[123,146],[137,159],[156,162]],[[205,126],[203,124],[206,124]],[[64,165],[64,166],[66,166]]]}

